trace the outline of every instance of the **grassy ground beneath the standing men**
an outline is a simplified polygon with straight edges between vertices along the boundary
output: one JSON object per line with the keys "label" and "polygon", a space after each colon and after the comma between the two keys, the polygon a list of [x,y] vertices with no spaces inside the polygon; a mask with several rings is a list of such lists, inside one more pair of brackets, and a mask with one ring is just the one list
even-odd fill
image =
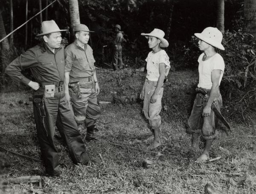
{"label": "grassy ground beneath the standing men", "polygon": [[[113,92],[118,96],[136,96],[140,93],[145,74],[131,69],[115,72],[99,69],[97,73],[100,101],[111,101]],[[228,194],[256,193],[256,131],[253,126],[229,121],[233,132],[227,135],[220,130],[210,152],[212,158],[221,156],[219,160],[204,164],[194,162],[204,147],[202,141],[200,152],[184,151],[190,145],[186,120],[195,95],[197,76],[196,71],[169,74],[161,112],[162,144],[155,152],[148,152],[148,143],[142,141],[150,135],[142,114],[142,101],[102,104],[102,116],[97,126],[102,140],[86,143],[90,157],[96,162],[87,166],[73,165],[63,141],[56,139],[63,173],[63,177],[56,178],[45,176],[40,162],[0,152],[10,163],[2,176],[0,193],[32,193],[36,188],[54,194],[190,194],[204,193],[207,183]],[[29,95],[29,91],[1,93],[0,146],[40,160]],[[221,111],[227,115],[225,108]],[[222,125],[220,127],[224,129]],[[85,132],[82,135],[84,138]],[[228,149],[230,157],[225,157],[219,146]],[[148,169],[142,167],[145,159],[153,163]],[[11,177],[28,175],[41,175],[43,188],[38,188],[37,184],[6,182]]]}

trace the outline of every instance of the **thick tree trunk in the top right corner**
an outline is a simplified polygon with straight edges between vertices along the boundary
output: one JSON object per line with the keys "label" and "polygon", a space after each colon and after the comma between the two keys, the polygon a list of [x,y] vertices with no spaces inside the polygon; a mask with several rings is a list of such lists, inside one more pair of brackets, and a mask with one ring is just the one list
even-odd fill
{"label": "thick tree trunk in the top right corner", "polygon": [[244,0],[244,31],[256,37],[256,0]]}

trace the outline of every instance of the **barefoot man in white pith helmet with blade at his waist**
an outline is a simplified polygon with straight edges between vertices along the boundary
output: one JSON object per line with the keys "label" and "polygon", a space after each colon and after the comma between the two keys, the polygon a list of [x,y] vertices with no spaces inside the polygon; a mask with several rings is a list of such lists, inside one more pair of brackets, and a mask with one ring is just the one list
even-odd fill
{"label": "barefoot man in white pith helmet with blade at his waist", "polygon": [[[192,149],[199,149],[198,138],[200,134],[202,134],[202,138],[205,140],[204,152],[196,160],[198,163],[203,163],[209,159],[209,150],[217,136],[218,118],[211,110],[211,106],[215,104],[219,111],[222,106],[219,85],[224,73],[225,64],[222,56],[217,53],[217,49],[224,50],[224,47],[221,45],[221,31],[217,28],[205,28],[202,33],[195,33],[195,36],[199,38],[198,48],[203,51],[198,58],[198,88],[201,91],[207,92],[207,95],[197,93],[191,115],[188,119],[188,131],[192,134]],[[197,91],[200,90],[197,89]]]}

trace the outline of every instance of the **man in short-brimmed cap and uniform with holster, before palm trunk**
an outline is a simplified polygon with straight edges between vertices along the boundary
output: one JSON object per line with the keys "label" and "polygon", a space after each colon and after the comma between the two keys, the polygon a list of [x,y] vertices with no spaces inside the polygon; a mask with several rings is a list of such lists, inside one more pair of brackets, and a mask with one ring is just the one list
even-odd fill
{"label": "man in short-brimmed cap and uniform with holster, before palm trunk", "polygon": [[[86,141],[98,140],[94,134],[96,121],[101,115],[97,95],[99,94],[99,83],[94,67],[93,50],[88,45],[90,31],[84,24],[74,27],[76,40],[65,49],[65,94],[67,100],[71,101],[78,129],[87,128]],[[78,83],[79,82],[79,83]],[[79,84],[81,96],[76,90],[68,88],[68,84]],[[97,129],[96,129],[97,130]]]}

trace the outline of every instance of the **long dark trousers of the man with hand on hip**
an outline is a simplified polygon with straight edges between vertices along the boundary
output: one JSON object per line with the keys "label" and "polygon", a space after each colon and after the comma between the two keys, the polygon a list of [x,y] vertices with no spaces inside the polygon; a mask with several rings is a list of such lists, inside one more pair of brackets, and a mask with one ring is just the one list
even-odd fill
{"label": "long dark trousers of the man with hand on hip", "polygon": [[[42,90],[44,91],[44,90]],[[41,91],[41,92],[42,92]],[[42,94],[40,89],[34,93]],[[39,109],[34,107],[34,117],[40,143],[41,156],[47,174],[56,174],[59,170],[58,151],[54,143],[55,125],[67,144],[73,163],[88,163],[89,157],[84,142],[77,130],[73,112],[68,106],[64,91],[55,93],[53,98],[44,98],[46,116],[40,115]]]}

